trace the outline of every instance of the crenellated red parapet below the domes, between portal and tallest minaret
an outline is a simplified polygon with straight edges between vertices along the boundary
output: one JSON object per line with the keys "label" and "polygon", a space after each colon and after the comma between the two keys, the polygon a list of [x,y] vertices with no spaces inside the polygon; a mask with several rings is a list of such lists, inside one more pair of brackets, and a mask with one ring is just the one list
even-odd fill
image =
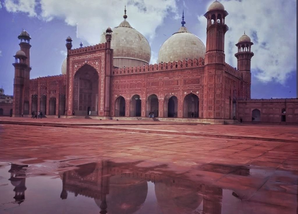
{"label": "crenellated red parapet below the domes, between portal and tallest minaret", "polygon": [[112,75],[128,75],[128,74],[140,74],[149,72],[162,72],[162,71],[173,71],[173,70],[183,70],[187,68],[203,67],[205,64],[203,58],[199,59],[188,59],[183,61],[173,61],[164,62],[158,64],[150,64],[144,66],[134,66],[134,67],[123,67],[115,68]]}

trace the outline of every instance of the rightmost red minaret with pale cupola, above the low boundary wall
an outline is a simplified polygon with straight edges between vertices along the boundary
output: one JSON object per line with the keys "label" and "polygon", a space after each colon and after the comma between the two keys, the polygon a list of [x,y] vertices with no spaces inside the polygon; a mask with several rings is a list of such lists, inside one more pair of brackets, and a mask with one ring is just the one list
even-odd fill
{"label": "rightmost red minaret with pale cupola, above the low boundary wall", "polygon": [[237,68],[242,76],[242,81],[240,84],[240,98],[250,99],[250,87],[252,74],[250,72],[251,58],[254,53],[251,52],[251,46],[254,43],[251,42],[249,36],[244,34],[238,40],[236,46],[238,47],[238,52],[235,53],[237,58]]}

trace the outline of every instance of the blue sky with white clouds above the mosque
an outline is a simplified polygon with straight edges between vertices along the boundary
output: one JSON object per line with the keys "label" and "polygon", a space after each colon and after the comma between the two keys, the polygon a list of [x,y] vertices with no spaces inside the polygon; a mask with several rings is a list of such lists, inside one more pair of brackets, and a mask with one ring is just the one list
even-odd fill
{"label": "blue sky with white clouds above the mosque", "polygon": [[[61,73],[66,56],[65,39],[73,47],[97,44],[108,26],[122,20],[126,3],[128,21],[149,41],[155,63],[162,43],[181,26],[184,9],[186,27],[206,44],[203,16],[214,0],[0,0],[0,86],[13,94],[13,55],[24,28],[32,40],[30,78]],[[237,66],[235,44],[244,30],[251,37],[252,98],[296,97],[296,1],[222,0],[229,13],[225,38],[226,62]],[[282,10],[281,10],[282,8]]]}

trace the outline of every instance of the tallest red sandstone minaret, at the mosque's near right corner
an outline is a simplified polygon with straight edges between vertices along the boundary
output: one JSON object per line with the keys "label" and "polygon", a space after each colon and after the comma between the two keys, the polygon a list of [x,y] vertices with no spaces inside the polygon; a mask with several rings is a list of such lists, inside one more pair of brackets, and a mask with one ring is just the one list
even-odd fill
{"label": "tallest red sandstone minaret, at the mosque's near right corner", "polygon": [[225,24],[228,15],[224,5],[213,2],[205,17],[207,19],[207,41],[204,69],[204,118],[224,118],[224,35],[229,30]]}

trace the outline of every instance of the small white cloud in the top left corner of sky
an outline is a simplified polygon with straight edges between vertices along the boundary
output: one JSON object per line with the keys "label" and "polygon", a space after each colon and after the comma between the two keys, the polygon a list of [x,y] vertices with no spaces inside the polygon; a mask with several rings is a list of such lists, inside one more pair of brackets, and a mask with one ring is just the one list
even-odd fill
{"label": "small white cloud in the top left corner of sky", "polygon": [[8,12],[23,12],[28,13],[28,16],[36,16],[35,13],[35,0],[5,0],[4,7]]}

